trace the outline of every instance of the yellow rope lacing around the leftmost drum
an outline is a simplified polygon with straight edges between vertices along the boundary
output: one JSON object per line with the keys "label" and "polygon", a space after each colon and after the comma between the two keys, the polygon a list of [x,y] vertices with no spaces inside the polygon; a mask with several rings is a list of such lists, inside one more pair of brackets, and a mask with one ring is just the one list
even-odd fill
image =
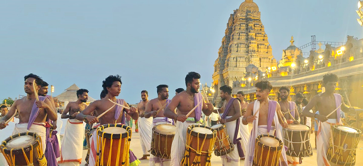
{"label": "yellow rope lacing around the leftmost drum", "polygon": [[[35,136],[36,133],[33,133],[32,136]],[[26,135],[29,135],[29,130],[28,132],[26,132]],[[31,136],[31,135],[30,135]],[[18,133],[18,137],[20,137],[20,133]],[[13,139],[13,136],[10,136],[10,140]],[[36,141],[38,142],[38,146],[36,146],[36,154],[38,155],[38,163],[40,166],[46,166],[47,165],[47,160],[43,154],[43,151],[42,151],[42,138],[40,136],[36,137]],[[2,141],[1,142],[1,152],[4,154],[4,157],[6,159],[6,161],[8,162],[8,164],[10,166],[15,166],[15,154],[13,154],[13,148],[10,149],[10,154],[5,154],[4,150],[5,149],[8,149],[5,147],[5,145],[3,143],[7,143],[6,141]],[[34,150],[34,147],[33,147],[33,144],[30,144],[30,150],[29,150],[29,153],[30,153],[30,159],[26,156],[26,153],[25,153],[25,150],[24,150],[24,147],[21,148],[21,150],[23,151],[23,155],[24,155],[24,158],[25,158],[25,161],[26,161],[26,164],[27,166],[34,166],[34,163],[33,163],[33,150]],[[41,157],[40,157],[41,156]],[[39,158],[40,157],[40,158]],[[10,158],[10,159],[9,159]]]}

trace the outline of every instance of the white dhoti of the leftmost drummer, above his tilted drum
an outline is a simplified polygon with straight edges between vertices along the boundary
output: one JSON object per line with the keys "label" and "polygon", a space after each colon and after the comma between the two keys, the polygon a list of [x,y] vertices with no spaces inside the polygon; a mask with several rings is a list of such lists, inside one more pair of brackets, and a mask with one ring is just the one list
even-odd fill
{"label": "white dhoti of the leftmost drummer, above his tilted drum", "polygon": [[[45,123],[33,123],[32,126],[30,126],[29,132],[37,133],[38,136],[42,139],[42,150],[43,154],[45,152],[46,148],[46,128]],[[17,133],[24,133],[28,132],[28,123],[18,123],[15,125],[14,131],[12,135]]]}

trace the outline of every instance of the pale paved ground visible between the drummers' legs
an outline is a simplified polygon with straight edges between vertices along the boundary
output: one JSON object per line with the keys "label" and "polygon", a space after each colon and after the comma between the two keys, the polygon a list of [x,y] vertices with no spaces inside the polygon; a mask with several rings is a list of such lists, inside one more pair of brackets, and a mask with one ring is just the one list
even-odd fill
{"label": "pale paved ground visible between the drummers' legs", "polygon": [[[133,129],[135,130],[135,129]],[[311,134],[311,142],[314,142],[314,134]],[[131,136],[131,145],[130,145],[130,149],[132,149],[132,152],[134,152],[134,154],[136,155],[136,157],[140,158],[142,157],[142,149],[140,146],[140,140],[139,140],[139,133],[132,133]],[[316,163],[316,149],[314,144],[312,144],[313,146],[313,156],[311,157],[304,157],[303,158],[303,163],[301,164],[301,166],[314,166],[317,165]],[[87,153],[87,150],[83,150],[83,158],[85,158]],[[356,166],[363,166],[363,137],[361,137],[359,144],[358,144],[358,149],[356,150]],[[148,166],[149,159],[145,159],[145,160],[141,160],[140,166]],[[212,166],[221,166],[222,162],[220,157],[215,156],[214,154],[212,154]],[[82,161],[81,166],[83,166],[85,164],[85,161]],[[244,160],[240,161],[240,165],[243,166],[244,165]]]}

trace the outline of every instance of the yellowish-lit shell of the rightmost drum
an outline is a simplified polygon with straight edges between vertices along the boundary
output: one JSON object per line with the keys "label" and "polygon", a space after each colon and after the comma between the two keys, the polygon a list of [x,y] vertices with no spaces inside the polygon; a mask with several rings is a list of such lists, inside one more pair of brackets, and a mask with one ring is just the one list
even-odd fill
{"label": "yellowish-lit shell of the rightmost drum", "polygon": [[[360,137],[362,135],[362,132],[359,129],[350,127],[352,129],[357,130],[357,133],[347,132],[344,130],[340,130],[337,127],[338,126],[344,126],[344,125],[334,125],[332,126],[331,132],[333,132],[333,142],[334,145],[344,148],[344,149],[356,149],[358,146],[358,141],[360,140]],[[335,164],[338,165],[346,165],[351,166],[355,165],[355,157],[356,157],[356,150],[346,150],[341,153],[341,155],[337,155],[337,153],[334,153],[332,155],[333,147],[332,142],[330,142],[328,153],[327,153],[327,159]],[[337,147],[334,147],[335,152],[337,151]],[[346,162],[347,161],[347,162]]]}

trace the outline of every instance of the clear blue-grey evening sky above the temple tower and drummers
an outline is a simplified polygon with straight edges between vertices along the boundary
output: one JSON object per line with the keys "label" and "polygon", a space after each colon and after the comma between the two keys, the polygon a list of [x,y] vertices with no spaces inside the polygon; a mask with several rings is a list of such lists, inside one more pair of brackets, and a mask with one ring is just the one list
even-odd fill
{"label": "clear blue-grey evening sky above the temple tower and drummers", "polygon": [[[53,96],[75,83],[95,99],[102,80],[119,74],[118,98],[130,104],[142,90],[157,97],[159,84],[168,84],[173,97],[189,71],[210,86],[228,18],[243,1],[1,1],[0,99],[26,95],[29,73],[52,84]],[[277,61],[291,36],[298,47],[311,35],[333,42],[363,36],[358,0],[254,2]]]}

